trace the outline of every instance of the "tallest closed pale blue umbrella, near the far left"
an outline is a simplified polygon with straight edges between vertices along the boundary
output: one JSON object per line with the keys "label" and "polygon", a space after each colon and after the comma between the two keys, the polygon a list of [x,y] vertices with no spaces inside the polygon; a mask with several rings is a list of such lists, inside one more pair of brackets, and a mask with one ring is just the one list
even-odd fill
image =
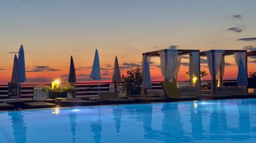
{"label": "tallest closed pale blue umbrella, near the far left", "polygon": [[17,70],[17,82],[18,82],[18,96],[17,100],[19,100],[19,87],[20,82],[26,81],[26,70],[25,70],[25,56],[24,56],[24,49],[23,45],[20,46],[18,51],[18,70]]}

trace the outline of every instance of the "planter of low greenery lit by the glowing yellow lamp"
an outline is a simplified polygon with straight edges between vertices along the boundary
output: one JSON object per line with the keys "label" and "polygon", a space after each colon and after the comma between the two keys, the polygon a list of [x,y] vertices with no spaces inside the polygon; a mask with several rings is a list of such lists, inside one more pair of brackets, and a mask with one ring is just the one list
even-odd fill
{"label": "planter of low greenery lit by the glowing yellow lamp", "polygon": [[45,86],[42,88],[42,92],[48,93],[50,99],[55,99],[55,98],[67,98],[68,92],[72,92],[73,87],[72,85],[67,85],[64,84],[61,87],[50,87],[50,86]]}

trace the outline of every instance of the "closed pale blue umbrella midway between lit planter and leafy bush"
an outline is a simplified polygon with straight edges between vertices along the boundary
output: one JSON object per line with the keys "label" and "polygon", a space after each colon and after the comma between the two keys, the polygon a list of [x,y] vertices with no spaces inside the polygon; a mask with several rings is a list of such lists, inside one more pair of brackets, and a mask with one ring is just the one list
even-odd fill
{"label": "closed pale blue umbrella midway between lit planter and leafy bush", "polygon": [[91,78],[98,80],[98,95],[99,95],[99,80],[100,78],[100,65],[99,65],[99,54],[98,50],[95,51],[94,61],[93,61],[93,68],[90,75]]}

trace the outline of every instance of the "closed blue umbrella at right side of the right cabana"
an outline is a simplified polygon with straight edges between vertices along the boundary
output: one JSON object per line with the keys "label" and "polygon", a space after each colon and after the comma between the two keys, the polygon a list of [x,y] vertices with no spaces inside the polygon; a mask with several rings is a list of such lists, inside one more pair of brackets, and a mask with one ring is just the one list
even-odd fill
{"label": "closed blue umbrella at right side of the right cabana", "polygon": [[245,67],[242,58],[239,59],[237,85],[248,85]]}

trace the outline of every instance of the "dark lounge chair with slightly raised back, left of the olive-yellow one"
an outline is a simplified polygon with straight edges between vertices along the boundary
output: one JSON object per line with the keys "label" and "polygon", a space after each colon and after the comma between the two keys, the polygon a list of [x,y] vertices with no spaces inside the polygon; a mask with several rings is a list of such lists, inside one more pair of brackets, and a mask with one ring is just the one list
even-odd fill
{"label": "dark lounge chair with slightly raised back, left of the olive-yellow one", "polygon": [[131,103],[135,102],[135,99],[120,98],[115,93],[100,93],[100,100],[109,100],[114,103]]}

